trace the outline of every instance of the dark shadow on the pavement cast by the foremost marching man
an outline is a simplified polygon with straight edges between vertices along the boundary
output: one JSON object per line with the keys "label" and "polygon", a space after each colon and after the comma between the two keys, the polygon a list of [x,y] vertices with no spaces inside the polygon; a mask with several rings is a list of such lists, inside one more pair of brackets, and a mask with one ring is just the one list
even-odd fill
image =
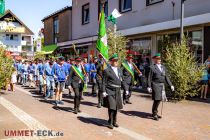
{"label": "dark shadow on the pavement cast by the foremost marching man", "polygon": [[83,123],[94,124],[97,126],[107,127],[107,125],[108,125],[107,120],[99,119],[99,118],[89,118],[89,117],[78,116],[77,119]]}

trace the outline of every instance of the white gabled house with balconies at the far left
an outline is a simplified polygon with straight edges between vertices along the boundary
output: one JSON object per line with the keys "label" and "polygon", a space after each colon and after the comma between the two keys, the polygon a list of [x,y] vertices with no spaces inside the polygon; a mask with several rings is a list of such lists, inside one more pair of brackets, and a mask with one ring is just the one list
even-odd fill
{"label": "white gabled house with balconies at the far left", "polygon": [[33,32],[10,10],[0,17],[0,44],[13,56],[33,56]]}

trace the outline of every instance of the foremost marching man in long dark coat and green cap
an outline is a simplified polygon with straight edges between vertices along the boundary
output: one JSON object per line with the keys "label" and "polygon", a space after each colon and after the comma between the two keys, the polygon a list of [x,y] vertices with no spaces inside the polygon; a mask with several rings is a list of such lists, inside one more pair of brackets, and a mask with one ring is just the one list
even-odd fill
{"label": "foremost marching man in long dark coat and green cap", "polygon": [[118,55],[114,54],[110,59],[111,66],[104,70],[103,97],[104,107],[108,108],[108,128],[119,127],[117,124],[117,110],[122,109],[121,84],[122,72],[118,67]]}

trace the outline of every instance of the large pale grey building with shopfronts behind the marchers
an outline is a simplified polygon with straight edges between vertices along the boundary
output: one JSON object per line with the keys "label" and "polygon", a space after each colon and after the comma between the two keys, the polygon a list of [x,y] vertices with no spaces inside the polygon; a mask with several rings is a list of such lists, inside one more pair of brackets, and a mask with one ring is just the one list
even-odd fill
{"label": "large pale grey building with shopfronts behind the marchers", "polygon": [[[128,48],[150,57],[160,51],[160,41],[166,35],[179,39],[181,0],[105,0],[105,13],[116,8],[122,14],[117,29],[129,38]],[[98,32],[100,0],[72,1],[72,41],[62,45],[84,48],[94,55]],[[184,31],[191,38],[199,62],[210,54],[210,0],[186,0]],[[61,45],[61,44],[60,44]],[[58,44],[59,46],[59,44]]]}

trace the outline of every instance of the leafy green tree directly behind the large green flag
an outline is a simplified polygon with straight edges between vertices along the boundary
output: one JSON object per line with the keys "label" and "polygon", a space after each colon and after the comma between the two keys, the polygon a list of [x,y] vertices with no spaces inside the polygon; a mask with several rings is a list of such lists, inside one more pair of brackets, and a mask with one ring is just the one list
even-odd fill
{"label": "leafy green tree directly behind the large green flag", "polygon": [[113,55],[114,53],[117,53],[120,62],[119,64],[121,64],[126,57],[126,45],[128,39],[120,33],[115,33],[113,25],[108,28],[107,35],[109,56]]}

